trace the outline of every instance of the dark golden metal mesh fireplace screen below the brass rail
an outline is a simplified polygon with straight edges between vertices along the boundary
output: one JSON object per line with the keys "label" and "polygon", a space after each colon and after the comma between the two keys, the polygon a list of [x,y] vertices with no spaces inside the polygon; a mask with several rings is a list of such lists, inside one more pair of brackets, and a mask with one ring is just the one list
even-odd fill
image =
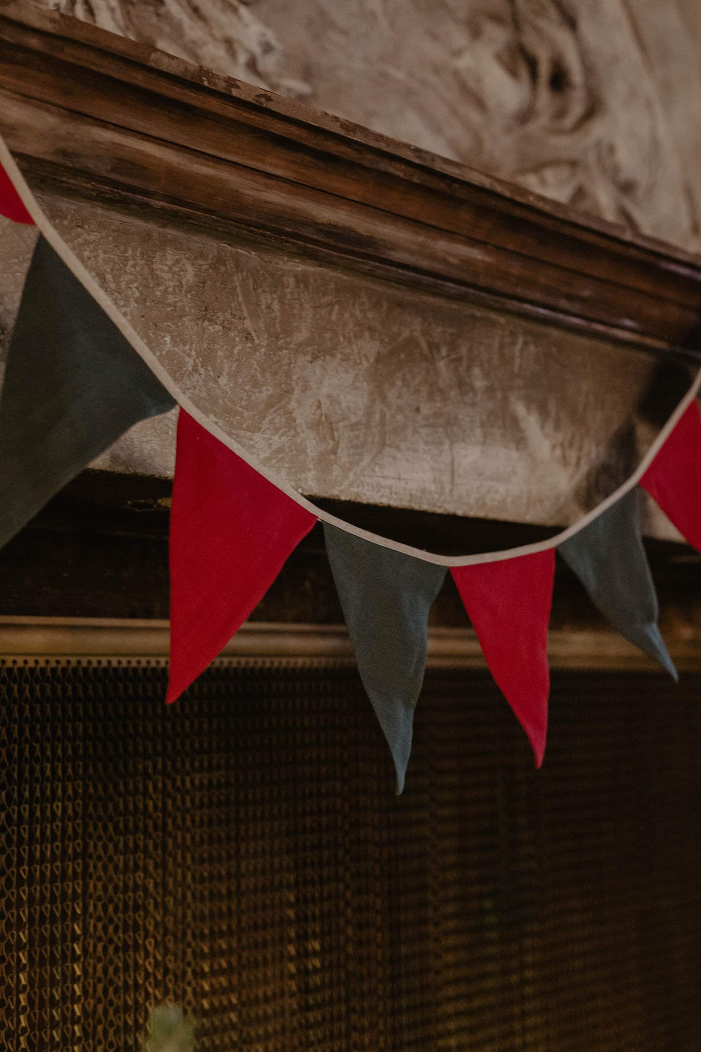
{"label": "dark golden metal mesh fireplace screen below the brass rail", "polygon": [[555,674],[542,771],[431,673],[405,795],[355,673],[0,669],[3,1049],[692,1052],[699,676]]}

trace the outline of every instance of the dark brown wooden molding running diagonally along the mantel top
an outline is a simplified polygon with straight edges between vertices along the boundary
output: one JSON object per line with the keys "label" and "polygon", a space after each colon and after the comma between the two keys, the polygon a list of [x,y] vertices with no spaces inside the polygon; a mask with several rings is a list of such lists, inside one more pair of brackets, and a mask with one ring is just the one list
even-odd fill
{"label": "dark brown wooden molding running diagonally along the mantel top", "polygon": [[0,0],[0,132],[34,180],[701,357],[700,260],[28,0]]}

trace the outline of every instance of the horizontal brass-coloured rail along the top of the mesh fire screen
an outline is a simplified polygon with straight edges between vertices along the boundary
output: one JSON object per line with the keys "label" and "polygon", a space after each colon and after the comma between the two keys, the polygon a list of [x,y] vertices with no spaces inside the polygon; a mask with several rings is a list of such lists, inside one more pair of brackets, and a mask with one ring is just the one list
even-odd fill
{"label": "horizontal brass-coloured rail along the top of the mesh fire screen", "polygon": [[[685,624],[668,638],[680,671],[701,670],[701,631]],[[0,618],[0,661],[59,660],[166,663],[167,621],[109,618]],[[660,668],[606,628],[551,629],[552,668],[660,672]],[[344,625],[247,622],[218,659],[220,663],[353,665]],[[429,630],[428,667],[486,668],[477,636],[468,628]]]}

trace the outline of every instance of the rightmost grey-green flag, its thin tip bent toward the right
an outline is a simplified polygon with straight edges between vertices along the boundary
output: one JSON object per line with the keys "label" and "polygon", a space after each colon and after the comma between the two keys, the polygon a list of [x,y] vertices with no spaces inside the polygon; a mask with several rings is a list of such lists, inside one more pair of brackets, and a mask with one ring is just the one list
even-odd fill
{"label": "rightmost grey-green flag, its thin tip bent toward the right", "polygon": [[677,679],[657,627],[657,593],[640,533],[639,489],[632,489],[558,551],[615,628]]}

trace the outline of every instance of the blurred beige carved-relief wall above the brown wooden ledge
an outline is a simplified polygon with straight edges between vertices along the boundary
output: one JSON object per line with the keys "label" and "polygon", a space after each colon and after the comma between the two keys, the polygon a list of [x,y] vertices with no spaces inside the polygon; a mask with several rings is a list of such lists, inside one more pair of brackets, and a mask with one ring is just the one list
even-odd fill
{"label": "blurred beige carved-relief wall above the brown wooden ledge", "polygon": [[698,0],[49,0],[49,5],[701,247]]}

